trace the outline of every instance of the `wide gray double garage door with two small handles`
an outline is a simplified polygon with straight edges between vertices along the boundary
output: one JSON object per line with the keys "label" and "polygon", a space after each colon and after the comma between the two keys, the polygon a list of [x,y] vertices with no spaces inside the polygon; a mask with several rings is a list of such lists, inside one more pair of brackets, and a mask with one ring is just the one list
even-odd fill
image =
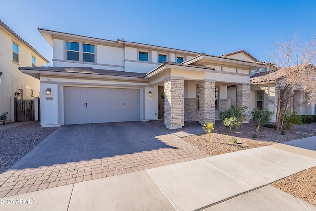
{"label": "wide gray double garage door with two small handles", "polygon": [[120,88],[64,88],[65,124],[140,120],[140,90]]}

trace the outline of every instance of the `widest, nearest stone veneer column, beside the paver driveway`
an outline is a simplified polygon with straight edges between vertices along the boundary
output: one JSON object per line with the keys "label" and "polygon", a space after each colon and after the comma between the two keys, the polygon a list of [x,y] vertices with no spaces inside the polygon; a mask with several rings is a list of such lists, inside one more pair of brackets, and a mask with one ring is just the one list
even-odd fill
{"label": "widest, nearest stone veneer column, beside the paver driveway", "polygon": [[164,80],[164,124],[169,129],[184,126],[184,79]]}

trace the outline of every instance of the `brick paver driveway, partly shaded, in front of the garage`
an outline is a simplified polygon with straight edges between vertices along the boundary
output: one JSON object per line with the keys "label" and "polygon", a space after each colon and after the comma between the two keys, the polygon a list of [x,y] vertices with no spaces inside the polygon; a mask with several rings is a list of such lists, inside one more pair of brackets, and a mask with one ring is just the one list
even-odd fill
{"label": "brick paver driveway, partly shaded, in front of the garage", "polygon": [[208,155],[144,122],[67,125],[0,175],[0,197]]}

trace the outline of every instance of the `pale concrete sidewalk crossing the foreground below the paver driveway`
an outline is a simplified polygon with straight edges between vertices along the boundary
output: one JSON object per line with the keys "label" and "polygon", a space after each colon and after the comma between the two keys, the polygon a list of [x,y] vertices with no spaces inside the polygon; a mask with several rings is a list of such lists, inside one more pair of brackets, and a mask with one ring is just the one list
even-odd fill
{"label": "pale concrete sidewalk crossing the foreground below the paver driveway", "polygon": [[0,210],[316,211],[268,185],[314,166],[316,136],[1,198]]}

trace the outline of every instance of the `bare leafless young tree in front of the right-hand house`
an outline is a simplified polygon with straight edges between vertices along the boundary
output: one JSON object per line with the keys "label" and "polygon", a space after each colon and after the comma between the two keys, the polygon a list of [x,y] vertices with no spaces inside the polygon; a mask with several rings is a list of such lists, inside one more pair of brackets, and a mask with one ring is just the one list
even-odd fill
{"label": "bare leafless young tree in front of the right-hand house", "polygon": [[[316,96],[316,37],[308,41],[299,41],[294,35],[286,41],[275,44],[271,62],[272,70],[257,73],[251,79],[252,84],[265,84],[274,87],[278,100],[273,100],[277,107],[276,130],[282,129],[286,110],[292,107],[294,90],[299,90],[305,97],[306,104],[314,104]],[[271,90],[269,90],[271,91]],[[294,108],[295,109],[295,108]]]}

